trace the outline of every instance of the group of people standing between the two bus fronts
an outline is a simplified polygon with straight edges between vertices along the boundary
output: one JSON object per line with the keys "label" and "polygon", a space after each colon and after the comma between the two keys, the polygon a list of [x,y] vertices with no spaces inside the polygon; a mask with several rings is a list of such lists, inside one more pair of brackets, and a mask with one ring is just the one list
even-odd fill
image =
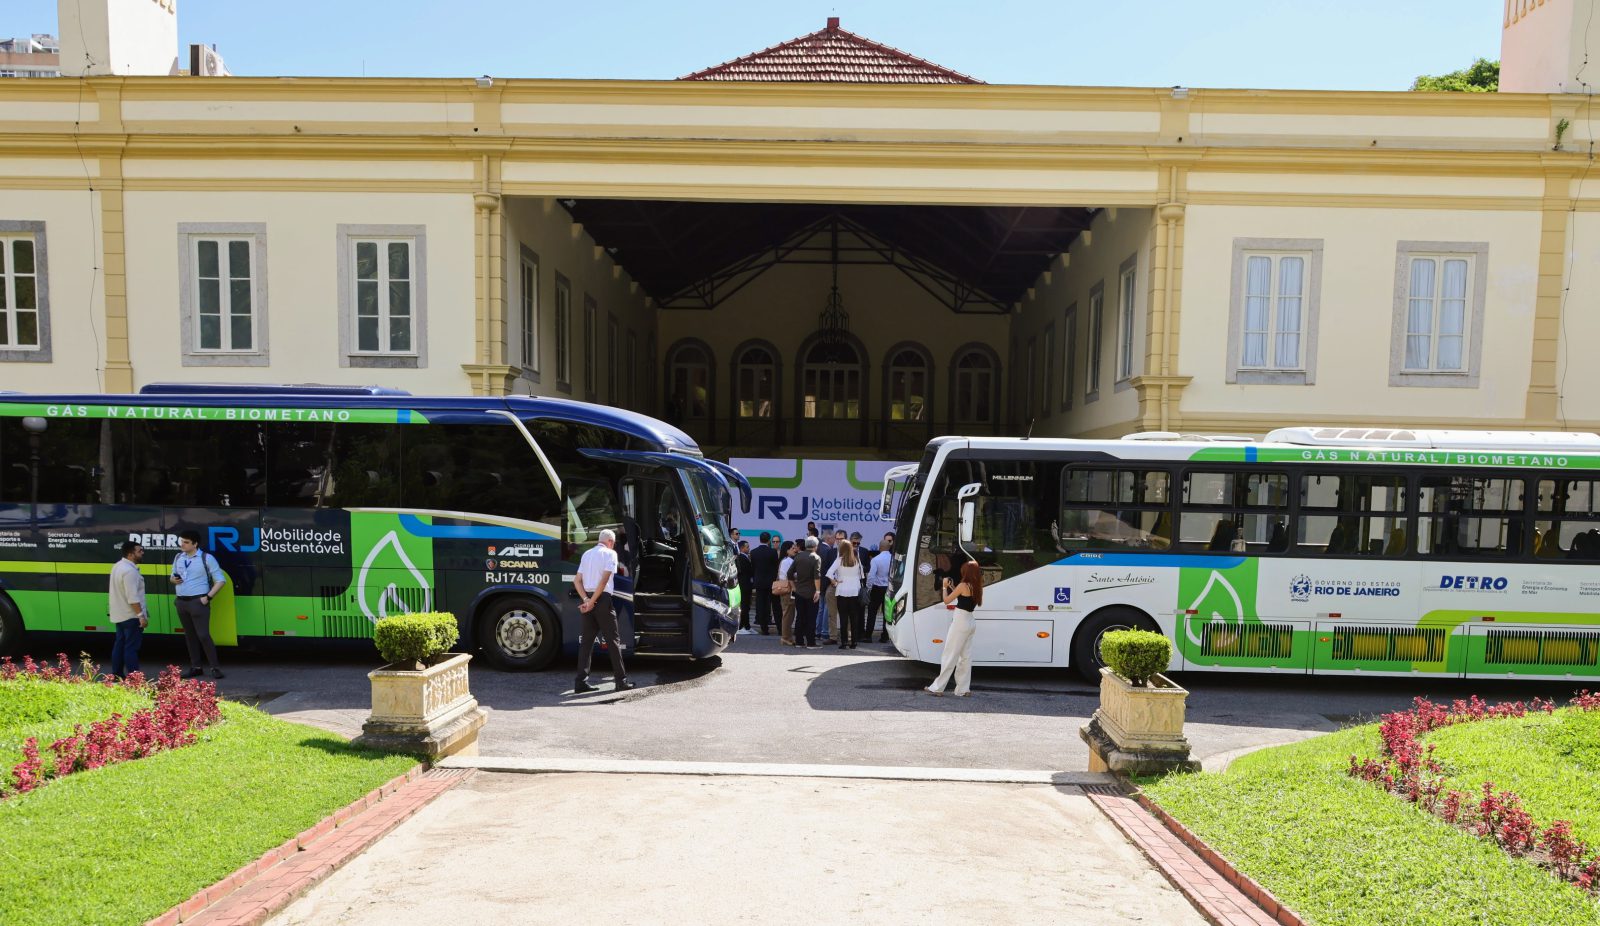
{"label": "group of people standing between the two bus fronts", "polygon": [[[784,646],[854,649],[870,641],[890,589],[893,547],[893,531],[869,549],[859,531],[827,537],[814,523],[798,541],[776,541],[766,531],[755,547],[739,541],[739,629],[771,633],[776,625]],[[888,643],[886,617],[878,643]]]}

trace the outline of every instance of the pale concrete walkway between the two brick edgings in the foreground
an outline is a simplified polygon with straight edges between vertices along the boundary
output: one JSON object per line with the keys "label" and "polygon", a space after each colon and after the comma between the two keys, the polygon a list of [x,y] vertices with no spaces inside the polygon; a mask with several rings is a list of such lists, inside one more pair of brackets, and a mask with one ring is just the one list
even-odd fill
{"label": "pale concrete walkway between the two brick edgings in the foreground", "polygon": [[478,772],[272,923],[1205,920],[1075,787]]}

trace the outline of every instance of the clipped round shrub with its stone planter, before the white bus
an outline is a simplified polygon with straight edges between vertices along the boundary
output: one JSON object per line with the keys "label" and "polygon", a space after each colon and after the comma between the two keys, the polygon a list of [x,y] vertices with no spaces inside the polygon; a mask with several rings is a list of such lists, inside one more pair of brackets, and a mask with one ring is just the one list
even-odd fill
{"label": "clipped round shrub with its stone planter, before the white bus", "polygon": [[1184,739],[1189,693],[1162,675],[1173,659],[1166,635],[1114,630],[1101,638],[1101,705],[1078,731],[1090,745],[1090,771],[1198,771]]}

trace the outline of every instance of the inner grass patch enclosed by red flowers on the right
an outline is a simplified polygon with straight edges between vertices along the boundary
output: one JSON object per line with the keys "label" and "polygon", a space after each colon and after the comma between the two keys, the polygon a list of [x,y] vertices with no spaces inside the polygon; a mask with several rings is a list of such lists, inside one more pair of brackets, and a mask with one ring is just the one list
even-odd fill
{"label": "inner grass patch enclosed by red flowers on the right", "polygon": [[1600,848],[1600,712],[1446,726],[1422,742],[1438,747],[1446,788],[1477,793],[1491,780],[1522,795],[1533,819],[1573,820],[1573,835]]}

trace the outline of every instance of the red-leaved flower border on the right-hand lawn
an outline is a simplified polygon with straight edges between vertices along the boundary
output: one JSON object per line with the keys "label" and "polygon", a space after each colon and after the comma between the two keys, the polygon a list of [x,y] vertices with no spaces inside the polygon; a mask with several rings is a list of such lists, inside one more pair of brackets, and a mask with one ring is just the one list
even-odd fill
{"label": "red-leaved flower border on the right-hand lawn", "polygon": [[[1582,691],[1570,704],[1573,710],[1600,710],[1600,694]],[[1474,694],[1448,707],[1418,697],[1411,702],[1411,710],[1382,716],[1378,724],[1379,756],[1352,755],[1349,774],[1419,804],[1453,827],[1493,841],[1512,857],[1531,859],[1555,876],[1590,894],[1600,894],[1600,854],[1582,840],[1573,838],[1571,820],[1555,820],[1539,827],[1533,814],[1523,808],[1522,796],[1509,790],[1494,790],[1494,782],[1483,782],[1478,795],[1456,788],[1445,790],[1445,772],[1434,758],[1434,744],[1424,747],[1421,740],[1430,731],[1458,723],[1554,712],[1555,702],[1541,697],[1488,704]]]}

